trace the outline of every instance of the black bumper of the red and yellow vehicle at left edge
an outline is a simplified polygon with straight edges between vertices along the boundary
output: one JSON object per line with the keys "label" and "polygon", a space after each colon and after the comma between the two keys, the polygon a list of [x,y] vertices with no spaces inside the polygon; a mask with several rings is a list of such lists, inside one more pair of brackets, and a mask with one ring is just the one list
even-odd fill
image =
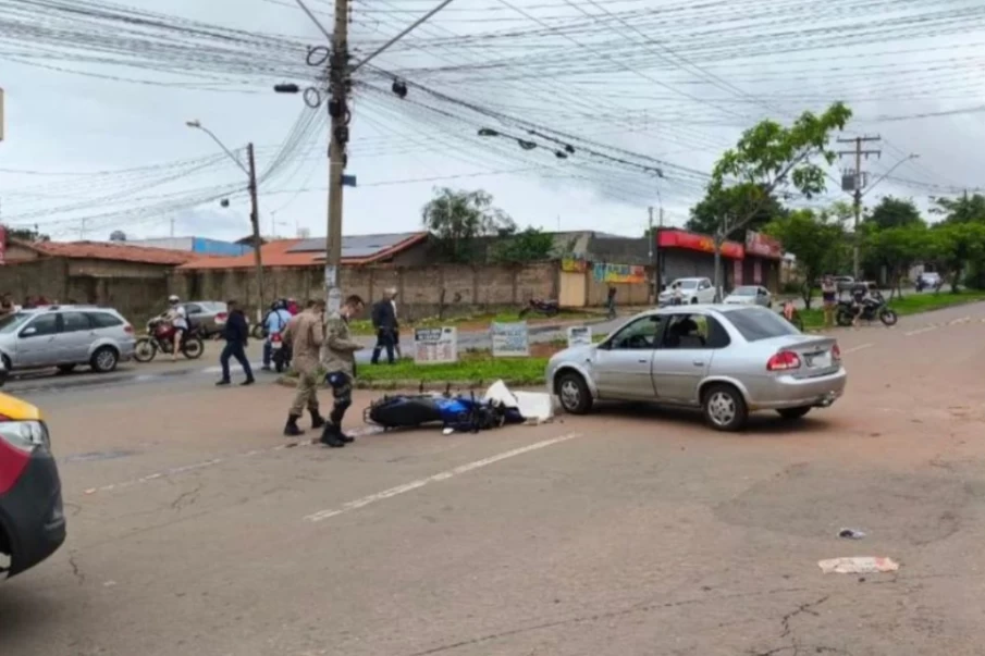
{"label": "black bumper of the red and yellow vehicle at left edge", "polygon": [[65,542],[61,481],[50,454],[35,455],[0,496],[0,524],[10,539],[13,577],[48,558]]}

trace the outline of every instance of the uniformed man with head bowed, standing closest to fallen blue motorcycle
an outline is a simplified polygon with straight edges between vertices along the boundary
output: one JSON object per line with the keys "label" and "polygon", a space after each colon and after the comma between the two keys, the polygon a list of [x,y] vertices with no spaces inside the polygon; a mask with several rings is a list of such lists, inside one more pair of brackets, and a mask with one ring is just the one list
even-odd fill
{"label": "uniformed man with head bowed, standing closest to fallen blue motorcycle", "polygon": [[[390,306],[387,299],[387,307]],[[322,444],[345,446],[353,438],[342,432],[342,419],[353,405],[353,382],[356,380],[356,351],[362,348],[349,336],[349,319],[362,311],[362,299],[355,294],[345,299],[338,312],[325,324],[325,381],[332,387],[332,412],[321,436]]]}

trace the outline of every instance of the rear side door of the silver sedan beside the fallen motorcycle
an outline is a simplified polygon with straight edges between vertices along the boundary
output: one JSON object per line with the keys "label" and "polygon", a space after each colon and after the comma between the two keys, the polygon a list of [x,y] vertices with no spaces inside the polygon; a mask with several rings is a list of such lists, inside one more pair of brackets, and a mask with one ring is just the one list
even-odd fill
{"label": "rear side door of the silver sedan beside the fallen motorcycle", "polygon": [[660,347],[653,355],[653,386],[660,400],[698,404],[698,386],[707,375],[715,350],[728,346],[718,321],[699,312],[667,318]]}

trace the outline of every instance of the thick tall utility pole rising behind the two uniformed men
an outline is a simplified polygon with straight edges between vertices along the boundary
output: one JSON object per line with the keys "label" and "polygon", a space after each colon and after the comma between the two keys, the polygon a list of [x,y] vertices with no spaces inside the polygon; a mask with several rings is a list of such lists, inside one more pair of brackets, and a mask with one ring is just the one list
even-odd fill
{"label": "thick tall utility pole rising behind the two uniformed men", "polygon": [[329,224],[325,234],[325,302],[329,312],[342,307],[338,267],[342,263],[342,174],[345,171],[345,146],[349,140],[348,111],[348,0],[335,0],[335,26],[329,57]]}

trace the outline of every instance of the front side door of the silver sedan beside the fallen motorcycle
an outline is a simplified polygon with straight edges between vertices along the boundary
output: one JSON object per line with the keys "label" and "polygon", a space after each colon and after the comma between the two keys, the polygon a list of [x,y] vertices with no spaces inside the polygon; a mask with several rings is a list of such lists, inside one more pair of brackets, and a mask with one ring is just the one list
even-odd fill
{"label": "front side door of the silver sedan beside the fallen motorcycle", "polygon": [[641,317],[599,345],[592,371],[600,398],[654,399],[651,363],[662,321],[663,315]]}

